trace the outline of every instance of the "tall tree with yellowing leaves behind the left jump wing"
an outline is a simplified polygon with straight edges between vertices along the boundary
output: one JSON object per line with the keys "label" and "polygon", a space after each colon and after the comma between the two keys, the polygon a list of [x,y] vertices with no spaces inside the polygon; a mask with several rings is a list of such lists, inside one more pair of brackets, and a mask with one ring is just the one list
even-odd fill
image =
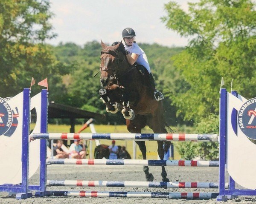
{"label": "tall tree with yellowing leaves behind the left jump wing", "polygon": [[55,37],[51,17],[47,0],[0,1],[0,96],[19,93],[29,87],[32,77],[37,82],[48,77],[49,87],[64,88],[59,76],[67,69],[44,43]]}

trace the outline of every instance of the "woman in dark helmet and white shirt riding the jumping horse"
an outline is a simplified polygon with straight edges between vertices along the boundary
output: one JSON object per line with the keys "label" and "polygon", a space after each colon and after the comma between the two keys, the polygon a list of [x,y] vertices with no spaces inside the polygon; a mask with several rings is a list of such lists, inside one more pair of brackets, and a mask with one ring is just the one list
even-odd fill
{"label": "woman in dark helmet and white shirt riding the jumping horse", "polygon": [[143,49],[140,48],[139,45],[134,41],[135,36],[135,31],[132,28],[125,28],[122,31],[124,46],[125,49],[129,52],[129,54],[126,55],[126,58],[130,65],[134,65],[134,63],[136,62],[138,65],[144,66],[147,69],[149,73],[150,85],[154,89],[154,97],[157,101],[160,101],[164,99],[164,96],[160,91],[157,91],[155,88],[156,85],[148,64],[147,56]]}

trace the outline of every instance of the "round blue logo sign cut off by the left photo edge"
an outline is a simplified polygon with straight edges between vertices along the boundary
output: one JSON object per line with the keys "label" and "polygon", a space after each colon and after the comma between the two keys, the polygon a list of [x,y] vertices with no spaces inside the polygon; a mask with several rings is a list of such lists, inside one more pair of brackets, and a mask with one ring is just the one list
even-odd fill
{"label": "round blue logo sign cut off by the left photo edge", "polygon": [[0,135],[6,133],[12,126],[12,109],[5,99],[0,97]]}

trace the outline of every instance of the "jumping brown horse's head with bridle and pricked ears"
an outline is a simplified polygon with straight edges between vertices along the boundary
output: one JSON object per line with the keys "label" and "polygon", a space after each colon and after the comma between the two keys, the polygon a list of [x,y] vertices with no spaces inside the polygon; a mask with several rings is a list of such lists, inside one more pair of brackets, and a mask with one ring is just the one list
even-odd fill
{"label": "jumping brown horse's head with bridle and pricked ears", "polygon": [[112,80],[117,79],[119,74],[122,74],[125,69],[123,62],[126,60],[124,54],[120,51],[120,47],[123,47],[122,41],[114,46],[107,46],[101,41],[101,45],[100,83],[102,87],[106,87],[110,85]]}

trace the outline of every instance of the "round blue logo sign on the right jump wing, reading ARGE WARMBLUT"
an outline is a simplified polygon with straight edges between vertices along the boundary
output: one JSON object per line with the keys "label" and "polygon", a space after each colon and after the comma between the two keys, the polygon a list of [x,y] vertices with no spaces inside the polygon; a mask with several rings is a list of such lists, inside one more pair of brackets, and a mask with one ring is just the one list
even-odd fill
{"label": "round blue logo sign on the right jump wing, reading ARGE WARMBLUT", "polygon": [[237,114],[238,126],[250,139],[256,139],[256,98],[249,99]]}

